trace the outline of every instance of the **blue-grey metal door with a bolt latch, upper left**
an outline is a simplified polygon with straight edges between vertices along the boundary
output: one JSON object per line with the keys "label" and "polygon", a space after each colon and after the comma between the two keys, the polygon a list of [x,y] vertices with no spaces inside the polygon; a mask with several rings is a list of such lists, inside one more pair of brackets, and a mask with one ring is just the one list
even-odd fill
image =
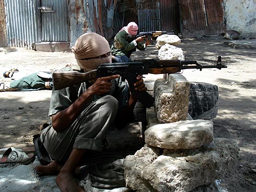
{"label": "blue-grey metal door with a bolt latch, upper left", "polygon": [[69,41],[68,0],[41,0],[41,41]]}

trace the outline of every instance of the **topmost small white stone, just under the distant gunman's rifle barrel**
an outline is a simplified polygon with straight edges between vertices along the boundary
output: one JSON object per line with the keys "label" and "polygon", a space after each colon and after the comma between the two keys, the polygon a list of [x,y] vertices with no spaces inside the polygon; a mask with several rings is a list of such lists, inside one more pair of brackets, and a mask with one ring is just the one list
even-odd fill
{"label": "topmost small white stone, just under the distant gunman's rifle barrel", "polygon": [[180,45],[181,39],[177,35],[160,35],[159,37],[156,38],[156,49],[160,49],[164,44],[169,44],[169,45]]}

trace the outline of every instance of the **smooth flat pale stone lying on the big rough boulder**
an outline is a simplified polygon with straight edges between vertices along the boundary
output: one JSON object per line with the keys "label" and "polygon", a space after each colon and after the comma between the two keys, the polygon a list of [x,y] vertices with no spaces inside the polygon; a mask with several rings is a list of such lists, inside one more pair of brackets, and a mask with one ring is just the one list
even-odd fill
{"label": "smooth flat pale stone lying on the big rough boulder", "polygon": [[214,123],[209,120],[157,124],[145,131],[147,145],[167,149],[198,148],[213,139]]}

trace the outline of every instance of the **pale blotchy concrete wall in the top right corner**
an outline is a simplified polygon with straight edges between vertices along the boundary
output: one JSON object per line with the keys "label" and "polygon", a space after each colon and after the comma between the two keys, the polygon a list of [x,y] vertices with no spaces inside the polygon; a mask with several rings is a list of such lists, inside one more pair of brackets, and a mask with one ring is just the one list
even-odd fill
{"label": "pale blotchy concrete wall in the top right corner", "polygon": [[223,0],[227,30],[245,38],[256,38],[256,0]]}

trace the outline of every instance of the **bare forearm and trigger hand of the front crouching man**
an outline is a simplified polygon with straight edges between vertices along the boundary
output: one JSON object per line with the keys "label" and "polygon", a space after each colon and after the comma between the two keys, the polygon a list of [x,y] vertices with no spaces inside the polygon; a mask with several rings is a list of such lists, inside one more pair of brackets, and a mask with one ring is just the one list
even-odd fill
{"label": "bare forearm and trigger hand of the front crouching man", "polygon": [[77,98],[68,108],[52,115],[52,127],[57,132],[62,132],[68,128],[76,117],[81,113],[83,107],[87,104],[93,95],[106,94],[112,86],[111,79],[119,78],[120,75],[112,75],[98,78],[83,94]]}

